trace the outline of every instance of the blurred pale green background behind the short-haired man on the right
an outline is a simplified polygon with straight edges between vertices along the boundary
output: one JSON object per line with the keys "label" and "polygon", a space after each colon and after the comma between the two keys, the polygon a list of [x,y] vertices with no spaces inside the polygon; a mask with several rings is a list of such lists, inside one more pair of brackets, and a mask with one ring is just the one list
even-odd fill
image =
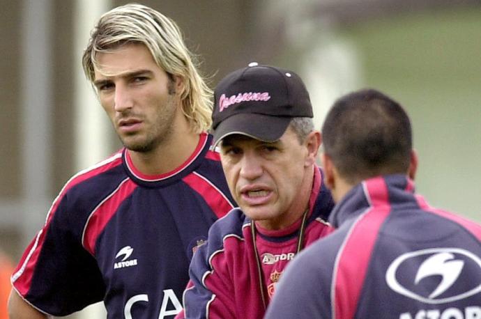
{"label": "blurred pale green background behind the short-haired man on the right", "polygon": [[481,10],[386,17],[342,36],[358,49],[363,84],[411,116],[417,191],[481,221]]}

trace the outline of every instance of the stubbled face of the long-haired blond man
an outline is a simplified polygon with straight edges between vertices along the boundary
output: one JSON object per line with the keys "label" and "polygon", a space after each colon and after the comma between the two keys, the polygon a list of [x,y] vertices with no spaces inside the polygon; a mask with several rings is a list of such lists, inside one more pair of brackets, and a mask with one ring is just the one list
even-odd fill
{"label": "stubbled face of the long-haired blond man", "polygon": [[181,113],[176,82],[142,44],[123,45],[97,59],[93,83],[123,145],[137,152],[154,150],[168,139]]}

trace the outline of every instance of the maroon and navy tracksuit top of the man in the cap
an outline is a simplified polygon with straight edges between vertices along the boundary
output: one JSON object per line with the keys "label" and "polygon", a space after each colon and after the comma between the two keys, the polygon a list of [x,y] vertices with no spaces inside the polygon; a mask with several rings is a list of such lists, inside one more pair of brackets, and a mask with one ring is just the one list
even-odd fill
{"label": "maroon and navy tracksuit top of the man in the cap", "polygon": [[[325,221],[333,206],[316,168],[302,243],[305,247],[333,231]],[[176,318],[262,318],[284,267],[296,254],[300,226],[301,220],[279,231],[256,225],[253,235],[251,219],[240,208],[217,220],[207,243],[192,258],[191,282],[183,297],[185,313]]]}

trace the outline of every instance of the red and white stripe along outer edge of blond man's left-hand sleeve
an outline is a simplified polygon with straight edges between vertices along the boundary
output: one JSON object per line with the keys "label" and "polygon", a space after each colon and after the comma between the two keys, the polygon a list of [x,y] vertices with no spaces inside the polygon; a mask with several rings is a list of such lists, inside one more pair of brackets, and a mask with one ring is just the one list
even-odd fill
{"label": "red and white stripe along outer edge of blond man's left-hand sleeve", "polygon": [[63,186],[59,195],[54,199],[52,206],[49,208],[43,228],[40,229],[36,238],[34,238],[25,249],[20,262],[15,268],[15,272],[12,275],[11,282],[20,295],[24,296],[29,291],[31,279],[33,277],[33,270],[35,269],[38,256],[40,255],[43,242],[45,241],[45,230],[48,228],[50,221],[52,221],[52,217],[55,215],[56,209],[58,208],[61,199],[63,199],[63,196],[65,196],[69,189],[78,185],[80,182],[93,178],[104,171],[108,171],[109,169],[120,165],[121,162],[121,152],[119,152],[88,169],[79,171],[79,173],[72,176],[72,178],[66,182],[66,185]]}

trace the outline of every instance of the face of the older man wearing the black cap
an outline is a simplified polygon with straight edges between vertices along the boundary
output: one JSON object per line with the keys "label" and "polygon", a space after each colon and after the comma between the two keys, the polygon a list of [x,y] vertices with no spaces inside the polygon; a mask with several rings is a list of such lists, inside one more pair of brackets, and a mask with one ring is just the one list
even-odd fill
{"label": "face of the older man wearing the black cap", "polygon": [[306,144],[299,143],[290,127],[274,143],[241,134],[221,142],[220,158],[231,194],[245,215],[268,229],[289,226],[295,221],[289,217],[305,209],[300,192],[312,175],[307,169],[312,166],[309,156]]}

